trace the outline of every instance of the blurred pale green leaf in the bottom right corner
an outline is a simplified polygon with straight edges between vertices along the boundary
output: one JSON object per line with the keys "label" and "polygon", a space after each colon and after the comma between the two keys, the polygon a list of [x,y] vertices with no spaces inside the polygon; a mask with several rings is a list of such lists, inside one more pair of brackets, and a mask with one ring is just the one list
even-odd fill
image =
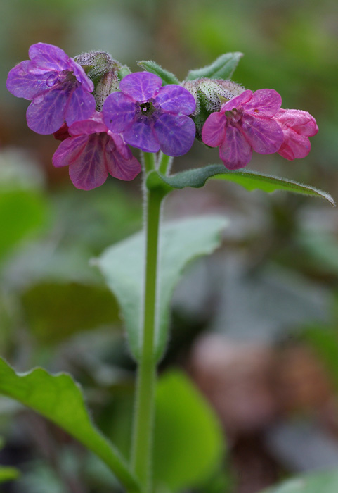
{"label": "blurred pale green leaf in the bottom right corner", "polygon": [[297,476],[261,493],[337,493],[338,470]]}

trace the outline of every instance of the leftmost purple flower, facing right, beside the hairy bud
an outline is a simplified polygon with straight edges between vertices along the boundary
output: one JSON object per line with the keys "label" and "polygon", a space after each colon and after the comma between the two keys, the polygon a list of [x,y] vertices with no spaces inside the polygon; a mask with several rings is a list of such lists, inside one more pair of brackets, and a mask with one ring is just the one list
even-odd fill
{"label": "leftmost purple flower, facing right, beside the hairy bud", "polygon": [[14,96],[32,100],[27,125],[38,134],[52,134],[67,125],[85,120],[95,111],[90,94],[94,85],[84,69],[53,44],[32,44],[30,60],[12,68],[7,89]]}

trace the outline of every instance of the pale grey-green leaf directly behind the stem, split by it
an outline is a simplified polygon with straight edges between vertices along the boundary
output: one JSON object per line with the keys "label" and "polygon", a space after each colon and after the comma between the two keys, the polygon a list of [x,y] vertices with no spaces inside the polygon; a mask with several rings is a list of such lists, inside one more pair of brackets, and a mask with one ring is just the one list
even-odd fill
{"label": "pale grey-green leaf directly behind the stem, split by it", "polygon": [[[197,256],[212,253],[221,243],[226,220],[218,216],[193,218],[162,227],[160,238],[157,327],[155,349],[160,358],[167,343],[169,304],[183,268]],[[129,336],[131,353],[141,350],[141,294],[143,292],[144,235],[138,233],[103,252],[95,263],[117,297]]]}

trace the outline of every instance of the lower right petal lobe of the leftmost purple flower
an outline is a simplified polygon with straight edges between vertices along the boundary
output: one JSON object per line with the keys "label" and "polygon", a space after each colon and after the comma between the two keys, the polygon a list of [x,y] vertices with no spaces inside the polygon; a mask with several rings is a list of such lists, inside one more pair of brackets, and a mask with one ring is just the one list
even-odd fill
{"label": "lower right petal lobe of the leftmost purple flower", "polygon": [[67,125],[90,118],[95,111],[95,98],[93,94],[82,89],[82,86],[72,89],[68,96],[67,107],[65,108],[64,118]]}

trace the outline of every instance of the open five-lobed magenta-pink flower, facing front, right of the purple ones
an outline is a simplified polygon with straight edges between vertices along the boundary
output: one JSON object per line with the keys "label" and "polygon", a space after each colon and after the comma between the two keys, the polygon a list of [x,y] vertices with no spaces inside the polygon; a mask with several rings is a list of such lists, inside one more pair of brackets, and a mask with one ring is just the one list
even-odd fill
{"label": "open five-lobed magenta-pink flower, facing front, right of the purple ones", "polygon": [[219,156],[226,168],[243,168],[259,154],[272,154],[283,142],[282,128],[273,119],[282,98],[274,89],[244,91],[212,113],[202,128],[202,141],[219,146]]}

